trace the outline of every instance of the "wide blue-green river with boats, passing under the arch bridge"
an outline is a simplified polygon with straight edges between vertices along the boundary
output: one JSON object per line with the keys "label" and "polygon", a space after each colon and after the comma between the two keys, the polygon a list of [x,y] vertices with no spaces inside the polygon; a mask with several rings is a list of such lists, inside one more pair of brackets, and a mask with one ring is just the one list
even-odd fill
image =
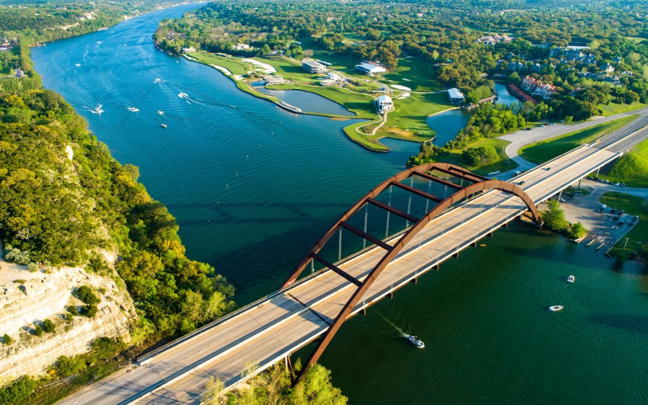
{"label": "wide blue-green river with boats, passing under the arch bridge", "polygon": [[[342,133],[348,122],[289,113],[211,67],[156,51],[157,22],[193,7],[48,43],[32,56],[44,86],[86,117],[115,158],[140,167],[150,194],[178,218],[187,255],[226,275],[242,305],[278,288],[418,145],[386,140],[392,152],[369,152]],[[98,103],[100,116],[89,110]],[[350,404],[645,403],[640,266],[614,268],[602,251],[523,224],[483,244],[341,328],[321,362]],[[576,283],[566,283],[570,274]],[[564,310],[546,310],[555,304]]]}

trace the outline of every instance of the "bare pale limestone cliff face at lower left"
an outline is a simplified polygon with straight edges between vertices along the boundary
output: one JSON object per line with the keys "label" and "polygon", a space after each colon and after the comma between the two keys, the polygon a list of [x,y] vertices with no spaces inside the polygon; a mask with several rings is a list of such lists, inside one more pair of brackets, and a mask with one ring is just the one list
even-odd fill
{"label": "bare pale limestone cliff face at lower left", "polygon": [[[0,383],[20,375],[44,373],[58,356],[84,353],[100,336],[121,336],[130,341],[128,325],[135,319],[135,308],[116,273],[114,278],[121,288],[110,277],[82,268],[32,273],[27,266],[0,259],[0,337],[8,334],[13,341],[0,345]],[[75,288],[83,285],[91,287],[101,298],[97,315],[74,316],[67,321],[66,308],[83,305],[72,295]],[[45,319],[54,322],[55,332],[35,336],[34,328]]]}

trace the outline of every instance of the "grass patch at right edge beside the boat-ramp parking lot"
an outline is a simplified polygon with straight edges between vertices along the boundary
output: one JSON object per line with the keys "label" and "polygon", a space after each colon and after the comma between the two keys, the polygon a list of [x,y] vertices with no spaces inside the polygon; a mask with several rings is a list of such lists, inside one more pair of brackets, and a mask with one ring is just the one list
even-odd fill
{"label": "grass patch at right edge beside the boat-ramp parking lot", "polygon": [[623,249],[625,244],[626,249],[637,251],[642,245],[648,243],[648,201],[645,198],[612,191],[603,194],[599,201],[607,204],[608,207],[623,209],[627,214],[639,216],[639,223],[625,235],[628,243],[625,244],[625,238],[621,238],[616,248]]}

